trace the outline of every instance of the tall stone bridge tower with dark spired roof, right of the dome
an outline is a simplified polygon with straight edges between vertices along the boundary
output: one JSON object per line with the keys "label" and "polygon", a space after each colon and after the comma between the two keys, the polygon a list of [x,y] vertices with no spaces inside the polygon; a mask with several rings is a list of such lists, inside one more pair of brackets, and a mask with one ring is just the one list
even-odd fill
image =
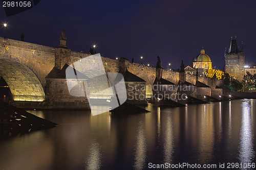
{"label": "tall stone bridge tower with dark spired roof, right of the dome", "polygon": [[241,49],[237,39],[232,39],[228,51],[225,52],[225,72],[241,81],[245,74],[245,54],[243,43]]}

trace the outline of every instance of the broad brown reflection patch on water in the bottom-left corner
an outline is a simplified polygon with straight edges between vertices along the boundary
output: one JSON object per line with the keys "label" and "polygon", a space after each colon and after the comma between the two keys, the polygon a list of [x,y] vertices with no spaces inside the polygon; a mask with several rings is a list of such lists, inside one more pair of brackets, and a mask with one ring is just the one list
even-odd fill
{"label": "broad brown reflection patch on water in the bottom-left corner", "polygon": [[1,142],[0,169],[50,169],[54,146],[42,131]]}

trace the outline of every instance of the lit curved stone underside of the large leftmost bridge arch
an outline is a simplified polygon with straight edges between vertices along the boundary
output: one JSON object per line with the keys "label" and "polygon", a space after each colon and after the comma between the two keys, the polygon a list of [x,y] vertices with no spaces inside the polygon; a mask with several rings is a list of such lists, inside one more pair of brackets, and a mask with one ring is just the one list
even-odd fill
{"label": "lit curved stone underside of the large leftmost bridge arch", "polygon": [[0,75],[6,81],[14,101],[45,101],[44,88],[36,75],[17,61],[0,58]]}

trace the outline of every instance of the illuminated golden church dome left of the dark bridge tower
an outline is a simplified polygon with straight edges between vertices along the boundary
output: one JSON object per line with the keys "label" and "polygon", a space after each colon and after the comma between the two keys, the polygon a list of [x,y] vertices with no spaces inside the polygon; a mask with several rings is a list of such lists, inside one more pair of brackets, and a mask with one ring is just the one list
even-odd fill
{"label": "illuminated golden church dome left of the dark bridge tower", "polygon": [[193,67],[211,69],[210,57],[205,54],[205,50],[202,48],[200,54],[194,59]]}

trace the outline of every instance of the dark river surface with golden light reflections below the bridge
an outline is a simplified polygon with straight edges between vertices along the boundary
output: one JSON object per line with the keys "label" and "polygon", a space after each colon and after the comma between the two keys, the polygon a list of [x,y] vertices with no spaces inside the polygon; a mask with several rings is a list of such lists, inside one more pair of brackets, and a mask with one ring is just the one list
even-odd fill
{"label": "dark river surface with golden light reflections below the bridge", "polygon": [[2,138],[0,169],[148,169],[165,162],[220,169],[256,162],[256,100],[146,109],[152,112],[30,111],[58,127]]}

